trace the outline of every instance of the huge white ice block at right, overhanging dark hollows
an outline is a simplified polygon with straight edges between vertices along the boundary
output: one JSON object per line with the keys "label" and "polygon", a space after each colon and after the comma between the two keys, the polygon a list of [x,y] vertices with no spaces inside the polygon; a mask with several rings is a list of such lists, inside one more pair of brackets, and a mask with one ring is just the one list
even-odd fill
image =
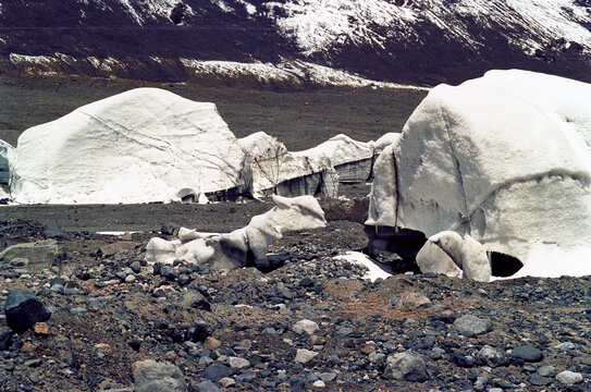
{"label": "huge white ice block at right, overhanging dark hollows", "polygon": [[517,70],[433,88],[375,162],[367,224],[469,233],[516,275],[591,273],[589,102],[589,84]]}

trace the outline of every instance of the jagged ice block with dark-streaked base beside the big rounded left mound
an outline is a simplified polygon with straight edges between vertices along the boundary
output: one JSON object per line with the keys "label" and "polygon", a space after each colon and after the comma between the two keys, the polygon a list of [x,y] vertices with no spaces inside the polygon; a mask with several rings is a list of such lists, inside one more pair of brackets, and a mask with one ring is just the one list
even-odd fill
{"label": "jagged ice block with dark-streaked base beside the big rounded left mound", "polygon": [[328,157],[290,152],[283,143],[264,132],[239,139],[248,155],[256,195],[336,197],[337,176]]}

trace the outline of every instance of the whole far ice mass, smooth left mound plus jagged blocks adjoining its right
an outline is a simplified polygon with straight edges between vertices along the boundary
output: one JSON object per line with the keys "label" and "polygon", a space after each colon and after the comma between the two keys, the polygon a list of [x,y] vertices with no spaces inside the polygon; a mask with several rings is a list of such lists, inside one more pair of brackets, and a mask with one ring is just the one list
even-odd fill
{"label": "whole far ice mass, smooth left mound plus jagged blocks adjoining its right", "polygon": [[237,139],[213,103],[138,88],[28,128],[15,149],[0,145],[0,183],[10,174],[21,204],[336,197],[333,166],[367,171],[380,145],[336,138],[327,142],[331,148],[297,152],[262,132]]}

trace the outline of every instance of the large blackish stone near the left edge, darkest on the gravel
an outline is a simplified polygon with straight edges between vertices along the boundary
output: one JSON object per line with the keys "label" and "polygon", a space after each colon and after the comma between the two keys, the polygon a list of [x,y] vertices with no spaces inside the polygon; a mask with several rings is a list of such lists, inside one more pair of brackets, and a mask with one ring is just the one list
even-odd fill
{"label": "large blackish stone near the left edge, darkest on the gravel", "polygon": [[51,317],[45,305],[27,289],[9,292],[4,314],[8,326],[16,333],[25,332],[35,323]]}

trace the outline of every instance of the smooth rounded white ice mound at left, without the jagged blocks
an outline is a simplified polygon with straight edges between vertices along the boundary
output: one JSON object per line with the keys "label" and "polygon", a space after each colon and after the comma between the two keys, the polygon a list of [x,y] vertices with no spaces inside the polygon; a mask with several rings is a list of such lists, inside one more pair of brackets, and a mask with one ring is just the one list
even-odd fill
{"label": "smooth rounded white ice mound at left, without the jagged blocks", "polygon": [[213,103],[137,88],[26,130],[17,203],[168,201],[248,191],[245,152]]}

